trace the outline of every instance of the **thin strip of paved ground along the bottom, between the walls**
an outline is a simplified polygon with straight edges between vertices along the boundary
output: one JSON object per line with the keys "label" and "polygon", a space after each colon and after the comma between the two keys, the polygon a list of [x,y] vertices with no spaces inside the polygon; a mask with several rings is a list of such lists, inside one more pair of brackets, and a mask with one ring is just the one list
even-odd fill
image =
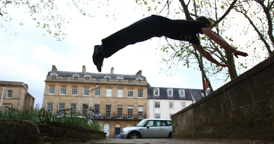
{"label": "thin strip of paved ground along the bottom, between the walls", "polygon": [[212,141],[184,139],[102,139],[85,144],[274,144],[269,141]]}

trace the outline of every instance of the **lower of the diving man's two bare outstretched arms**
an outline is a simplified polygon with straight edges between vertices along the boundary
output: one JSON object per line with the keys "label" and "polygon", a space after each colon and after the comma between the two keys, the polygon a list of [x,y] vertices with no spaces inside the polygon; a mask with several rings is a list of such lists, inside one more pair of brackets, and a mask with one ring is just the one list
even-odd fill
{"label": "lower of the diving man's two bare outstretched arms", "polygon": [[193,43],[192,43],[192,46],[193,46],[196,50],[198,50],[198,52],[200,52],[200,54],[202,54],[202,56],[204,56],[207,60],[209,60],[209,61],[215,63],[216,65],[221,66],[221,67],[230,67],[229,65],[222,64],[222,63],[218,62],[218,61],[217,61],[215,58],[213,58],[213,57],[211,56],[211,54],[210,54],[208,51],[206,51],[206,50],[204,49],[204,47],[202,47],[201,45],[197,45],[197,44],[193,44]]}

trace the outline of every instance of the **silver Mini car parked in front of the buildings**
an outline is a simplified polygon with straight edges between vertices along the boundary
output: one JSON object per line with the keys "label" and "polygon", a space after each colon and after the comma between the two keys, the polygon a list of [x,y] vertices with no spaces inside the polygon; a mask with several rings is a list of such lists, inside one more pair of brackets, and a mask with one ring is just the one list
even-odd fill
{"label": "silver Mini car parked in front of the buildings", "polygon": [[143,119],[134,127],[123,128],[122,139],[172,138],[172,123],[169,119]]}

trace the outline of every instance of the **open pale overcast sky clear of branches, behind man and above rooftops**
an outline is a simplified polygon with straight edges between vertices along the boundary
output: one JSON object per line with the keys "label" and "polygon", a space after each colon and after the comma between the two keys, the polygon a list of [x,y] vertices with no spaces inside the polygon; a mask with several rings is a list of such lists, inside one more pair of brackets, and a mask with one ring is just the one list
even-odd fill
{"label": "open pale overcast sky clear of branches, behind man and above rooftops", "polygon": [[[75,72],[81,72],[82,66],[85,65],[87,72],[97,73],[96,66],[92,62],[94,45],[101,44],[101,39],[144,18],[143,14],[145,16],[155,14],[145,10],[140,12],[135,6],[134,2],[123,1],[120,7],[108,7],[108,11],[95,9],[93,13],[95,17],[82,16],[74,9],[69,10],[72,20],[65,25],[67,38],[61,42],[51,35],[43,36],[43,30],[36,28],[29,14],[9,8],[14,20],[9,31],[0,30],[0,81],[28,84],[29,93],[35,97],[35,104],[40,104],[41,107],[44,80],[48,71],[51,71],[52,65],[55,65],[59,71]],[[117,9],[119,11],[115,13],[116,15],[111,15]],[[21,22],[24,26],[19,25]],[[17,35],[14,35],[14,32]],[[202,89],[201,72],[198,70],[188,69],[183,65],[168,72],[160,70],[166,68],[166,65],[160,63],[161,41],[164,39],[153,38],[127,46],[104,60],[101,73],[110,73],[111,67],[114,67],[116,74],[134,75],[142,70],[142,75],[147,78],[151,86]],[[214,77],[209,79],[214,90],[224,85],[222,81],[214,81]]]}

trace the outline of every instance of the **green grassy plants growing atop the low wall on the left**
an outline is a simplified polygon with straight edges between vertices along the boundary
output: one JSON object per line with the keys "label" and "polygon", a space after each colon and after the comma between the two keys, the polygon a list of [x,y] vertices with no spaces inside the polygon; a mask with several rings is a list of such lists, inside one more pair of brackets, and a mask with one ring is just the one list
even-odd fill
{"label": "green grassy plants growing atop the low wall on the left", "polygon": [[92,114],[82,116],[80,113],[63,113],[62,115],[57,113],[50,113],[45,108],[38,108],[36,105],[33,107],[11,107],[8,109],[0,108],[0,118],[2,119],[22,119],[30,120],[36,123],[56,121],[72,124],[76,126],[82,126],[84,128],[91,128],[94,130],[100,130],[100,126],[95,122]]}

